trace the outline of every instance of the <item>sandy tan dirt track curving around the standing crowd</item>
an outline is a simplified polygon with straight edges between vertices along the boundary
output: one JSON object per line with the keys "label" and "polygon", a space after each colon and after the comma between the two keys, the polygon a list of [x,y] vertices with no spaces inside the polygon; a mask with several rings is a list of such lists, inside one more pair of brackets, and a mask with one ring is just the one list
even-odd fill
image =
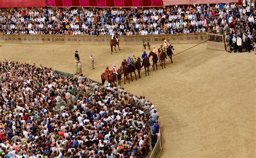
{"label": "sandy tan dirt track curving around the standing crowd", "polygon": [[[110,55],[109,46],[1,45],[0,60],[43,64],[69,73],[75,72],[77,49],[84,74],[97,81],[106,66],[120,66],[128,54],[142,54],[142,46],[121,46],[122,51]],[[174,45],[174,53],[191,46]],[[90,70],[91,54],[95,70]],[[164,134],[161,157],[256,157],[254,52],[227,54],[202,44],[173,59],[165,69],[151,70],[146,77],[143,71],[142,79],[122,85],[157,107]]]}

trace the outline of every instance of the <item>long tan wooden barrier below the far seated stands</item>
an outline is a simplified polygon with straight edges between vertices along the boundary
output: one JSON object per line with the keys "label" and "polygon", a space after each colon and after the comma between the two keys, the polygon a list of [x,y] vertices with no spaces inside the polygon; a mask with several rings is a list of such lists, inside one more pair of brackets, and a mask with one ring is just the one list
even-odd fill
{"label": "long tan wooden barrier below the far seated stands", "polygon": [[[0,42],[8,43],[42,43],[42,44],[93,44],[109,45],[109,35],[19,35],[0,34]],[[159,35],[123,35],[119,37],[120,45],[136,45],[145,42],[163,42],[165,39],[172,44],[198,43],[207,40],[206,33],[196,34],[159,34]]]}

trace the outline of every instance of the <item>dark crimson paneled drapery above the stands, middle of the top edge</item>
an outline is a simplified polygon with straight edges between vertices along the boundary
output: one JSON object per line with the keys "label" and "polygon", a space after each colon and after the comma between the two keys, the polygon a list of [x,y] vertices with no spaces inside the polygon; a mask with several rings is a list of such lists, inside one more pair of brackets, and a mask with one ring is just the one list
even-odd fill
{"label": "dark crimson paneled drapery above the stands, middle of the top edge", "polygon": [[[1,0],[0,0],[1,1]],[[69,7],[140,7],[163,6],[162,0],[47,0],[48,6]]]}

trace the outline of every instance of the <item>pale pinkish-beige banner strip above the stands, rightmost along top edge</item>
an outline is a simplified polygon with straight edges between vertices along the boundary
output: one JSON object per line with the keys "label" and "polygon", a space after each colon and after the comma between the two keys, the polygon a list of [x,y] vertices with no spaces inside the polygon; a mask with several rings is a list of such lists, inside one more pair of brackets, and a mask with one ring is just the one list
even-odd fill
{"label": "pale pinkish-beige banner strip above the stands, rightmost along top edge", "polygon": [[237,3],[238,0],[163,0],[164,5]]}

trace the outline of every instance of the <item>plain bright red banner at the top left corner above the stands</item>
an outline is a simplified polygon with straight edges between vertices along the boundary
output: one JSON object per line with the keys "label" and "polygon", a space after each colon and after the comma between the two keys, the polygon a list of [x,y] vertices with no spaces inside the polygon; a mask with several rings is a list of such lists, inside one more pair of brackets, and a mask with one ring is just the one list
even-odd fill
{"label": "plain bright red banner at the top left corner above the stands", "polygon": [[45,0],[0,0],[0,8],[32,8],[45,6]]}

